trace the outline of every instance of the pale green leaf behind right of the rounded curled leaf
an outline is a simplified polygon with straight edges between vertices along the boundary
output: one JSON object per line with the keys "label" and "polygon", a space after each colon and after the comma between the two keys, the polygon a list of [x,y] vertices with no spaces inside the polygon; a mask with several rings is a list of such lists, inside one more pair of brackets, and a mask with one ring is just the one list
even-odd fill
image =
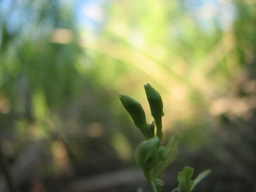
{"label": "pale green leaf behind right of the rounded curled leaf", "polygon": [[[162,149],[161,149],[162,148]],[[160,147],[158,150],[159,160],[154,167],[153,175],[159,177],[165,169],[174,162],[178,152],[178,138],[173,135],[166,144],[166,147]]]}

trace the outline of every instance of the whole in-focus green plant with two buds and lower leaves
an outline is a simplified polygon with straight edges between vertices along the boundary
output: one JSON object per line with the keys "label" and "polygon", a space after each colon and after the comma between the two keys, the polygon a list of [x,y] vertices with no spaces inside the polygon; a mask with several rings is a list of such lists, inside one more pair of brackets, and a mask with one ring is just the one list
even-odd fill
{"label": "whole in-focus green plant with two buds and lower leaves", "polygon": [[[119,98],[125,110],[132,117],[134,124],[145,137],[145,140],[136,148],[135,160],[142,168],[144,176],[151,184],[153,191],[161,192],[164,184],[161,180],[161,175],[174,162],[177,156],[178,138],[173,135],[166,146],[160,146],[163,136],[163,101],[160,94],[149,83],[144,85],[144,89],[147,101],[150,104],[151,115],[154,118],[152,123],[146,122],[145,112],[137,100],[127,95],[119,95]],[[195,180],[191,180],[193,173],[194,168],[185,166],[182,172],[178,173],[178,187],[173,189],[172,192],[189,192],[193,190],[210,173],[210,170],[205,170]],[[142,191],[141,188],[138,189],[138,192]]]}

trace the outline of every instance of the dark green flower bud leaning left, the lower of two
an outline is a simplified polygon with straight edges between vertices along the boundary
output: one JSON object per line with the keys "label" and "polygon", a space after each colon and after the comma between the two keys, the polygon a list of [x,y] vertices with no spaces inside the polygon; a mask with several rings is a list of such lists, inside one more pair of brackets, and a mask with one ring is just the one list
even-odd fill
{"label": "dark green flower bud leaning left, the lower of two", "polygon": [[146,129],[146,116],[141,104],[127,95],[119,95],[125,110],[131,115],[134,124],[141,130],[145,135]]}

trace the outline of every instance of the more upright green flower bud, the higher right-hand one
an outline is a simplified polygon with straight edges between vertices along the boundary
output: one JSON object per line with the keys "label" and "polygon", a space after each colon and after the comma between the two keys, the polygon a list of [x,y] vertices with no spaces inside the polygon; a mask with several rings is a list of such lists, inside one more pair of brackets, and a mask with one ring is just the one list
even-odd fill
{"label": "more upright green flower bud, the higher right-hand one", "polygon": [[151,114],[154,118],[164,116],[163,113],[163,101],[160,94],[149,84],[144,85],[146,91],[146,97],[150,104]]}

